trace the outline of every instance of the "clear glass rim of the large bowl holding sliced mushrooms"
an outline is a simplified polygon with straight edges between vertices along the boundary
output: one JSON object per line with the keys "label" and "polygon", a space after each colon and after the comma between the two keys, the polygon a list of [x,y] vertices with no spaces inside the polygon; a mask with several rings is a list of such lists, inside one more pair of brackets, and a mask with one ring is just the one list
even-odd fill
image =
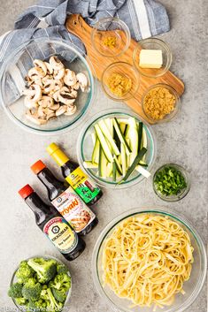
{"label": "clear glass rim of the large bowl holding sliced mushrooms", "polygon": [[81,62],[84,63],[84,65],[86,66],[86,69],[88,71],[88,74],[89,74],[90,98],[89,98],[88,102],[86,102],[87,106],[85,103],[85,106],[83,107],[83,111],[81,113],[81,116],[80,117],[78,116],[77,118],[75,118],[72,124],[61,126],[60,128],[57,128],[55,130],[43,130],[43,129],[37,129],[33,126],[27,126],[19,118],[16,118],[15,115],[13,115],[13,113],[10,111],[10,109],[4,103],[2,92],[0,92],[0,101],[2,103],[2,106],[4,108],[4,112],[6,113],[6,116],[10,120],[12,120],[12,122],[15,125],[26,130],[28,133],[40,134],[40,135],[57,135],[57,134],[66,133],[69,130],[73,130],[75,126],[79,126],[79,123],[81,121],[83,121],[83,119],[82,120],[80,120],[80,119],[86,117],[86,113],[88,112],[89,107],[92,105],[92,103],[94,102],[94,100],[96,98],[96,80],[93,77],[93,76],[95,76],[95,69],[94,69],[89,57],[86,54],[81,55],[81,50],[79,50],[78,47],[77,47],[77,49],[71,47],[69,42],[67,42],[65,39],[60,39],[60,40],[57,40],[55,38],[44,39],[43,37],[33,38],[33,39],[30,39],[29,41],[24,42],[23,44],[19,45],[18,48],[13,49],[11,55],[4,60],[4,63],[3,63],[2,68],[0,70],[0,90],[2,90],[2,80],[4,77],[4,72],[5,72],[5,70],[7,70],[8,66],[11,65],[10,61],[12,60],[12,58],[17,56],[22,49],[25,49],[27,47],[27,45],[33,44],[34,42],[37,42],[37,43],[38,42],[43,42],[43,43],[50,42],[50,43],[64,45],[65,48],[72,50],[73,53],[76,54],[81,59]]}

